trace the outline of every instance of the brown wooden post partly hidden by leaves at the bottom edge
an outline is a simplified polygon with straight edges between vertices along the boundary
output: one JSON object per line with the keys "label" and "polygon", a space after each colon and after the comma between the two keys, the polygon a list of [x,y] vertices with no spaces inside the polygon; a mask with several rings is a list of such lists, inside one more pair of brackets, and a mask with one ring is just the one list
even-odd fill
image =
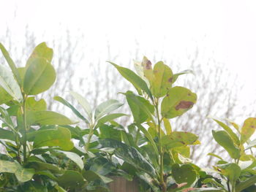
{"label": "brown wooden post partly hidden by leaves at the bottom edge", "polygon": [[111,192],[139,192],[137,180],[126,180],[124,177],[110,177],[113,182],[109,184]]}

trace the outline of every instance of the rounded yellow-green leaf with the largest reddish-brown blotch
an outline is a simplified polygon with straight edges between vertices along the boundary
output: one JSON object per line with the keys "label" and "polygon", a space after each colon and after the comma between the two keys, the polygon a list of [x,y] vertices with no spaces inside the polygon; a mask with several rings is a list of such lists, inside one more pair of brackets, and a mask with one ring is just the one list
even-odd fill
{"label": "rounded yellow-green leaf with the largest reddish-brown blotch", "polygon": [[197,101],[197,95],[187,88],[170,88],[162,100],[161,113],[164,118],[176,118],[191,109]]}

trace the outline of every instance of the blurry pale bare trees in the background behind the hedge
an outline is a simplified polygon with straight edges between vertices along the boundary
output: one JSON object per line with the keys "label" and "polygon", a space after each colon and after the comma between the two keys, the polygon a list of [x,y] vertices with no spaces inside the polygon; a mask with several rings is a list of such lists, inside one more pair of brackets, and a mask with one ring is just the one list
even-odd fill
{"label": "blurry pale bare trees in the background behind the hedge", "polygon": [[[29,54],[37,45],[37,39],[29,31],[29,28],[26,28],[25,45],[21,50],[18,50],[17,47],[13,47],[15,42],[12,42],[11,37],[12,34],[7,30],[6,37],[0,37],[0,40],[7,47],[7,50],[10,50],[11,55],[22,55],[20,58],[15,58],[15,63],[18,66],[21,64],[23,66]],[[81,39],[83,39],[83,34],[72,39],[72,35],[67,31],[65,36],[50,42],[52,45],[50,47],[53,47],[54,50],[53,66],[56,69],[57,79],[49,91],[42,93],[48,99],[49,110],[66,112],[67,108],[64,108],[59,102],[53,101],[53,96],[64,96],[67,100],[73,102],[67,91],[77,91],[89,100],[92,107],[96,107],[97,104],[108,99],[124,101],[124,97],[117,93],[131,88],[129,83],[123,80],[110,64],[105,64],[105,61],[100,60],[89,61],[86,53],[80,51],[80,44],[83,42]],[[108,60],[115,62],[118,55],[112,55],[108,43],[106,43],[106,50],[108,51]],[[135,55],[131,55],[130,58],[135,57],[135,59],[140,60],[138,53],[139,50],[136,50]],[[153,60],[159,60],[155,55],[149,56],[154,58]],[[235,78],[228,80],[227,77],[230,77],[230,73],[213,58],[209,58],[206,63],[200,61],[198,50],[195,51],[194,55],[188,56],[187,59],[191,63],[190,68],[195,72],[195,77],[180,78],[181,84],[183,83],[185,87],[197,93],[197,104],[191,111],[171,123],[176,130],[191,131],[200,137],[202,145],[192,149],[192,158],[195,163],[201,163],[200,160],[207,153],[217,152],[219,154],[219,152],[222,152],[222,149],[213,142],[211,137],[211,129],[217,128],[217,124],[206,116],[216,115],[220,118],[236,118],[234,110],[237,102],[236,93],[241,89],[241,85],[238,85]],[[0,61],[4,61],[3,58]],[[120,65],[133,68],[131,64],[132,60],[130,59]],[[82,75],[79,76],[78,72],[81,71],[82,66],[83,70],[86,69],[86,72],[82,72]],[[171,68],[179,68],[178,64],[170,64],[170,66]],[[182,79],[187,81],[182,81]],[[127,105],[123,107],[121,112],[129,113]],[[69,113],[69,115],[71,114]],[[121,123],[125,124],[127,121],[128,119],[123,119]],[[212,160],[211,157],[208,157],[207,162],[205,158],[202,162],[206,162],[204,165],[208,166]]]}

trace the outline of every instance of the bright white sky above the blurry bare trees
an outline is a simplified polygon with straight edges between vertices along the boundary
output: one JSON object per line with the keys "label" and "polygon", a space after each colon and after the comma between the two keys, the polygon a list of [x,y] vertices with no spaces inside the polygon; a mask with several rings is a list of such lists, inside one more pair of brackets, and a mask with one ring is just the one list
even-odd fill
{"label": "bright white sky above the blurry bare trees", "polygon": [[238,73],[246,82],[245,100],[255,99],[255,0],[0,0],[0,4],[0,36],[9,26],[13,38],[21,42],[21,31],[29,24],[38,42],[47,42],[61,35],[61,23],[73,34],[80,29],[86,47],[103,61],[107,41],[112,53],[130,56],[137,39],[143,55],[161,53],[166,61],[175,57],[181,63],[198,47],[206,58],[214,57]]}

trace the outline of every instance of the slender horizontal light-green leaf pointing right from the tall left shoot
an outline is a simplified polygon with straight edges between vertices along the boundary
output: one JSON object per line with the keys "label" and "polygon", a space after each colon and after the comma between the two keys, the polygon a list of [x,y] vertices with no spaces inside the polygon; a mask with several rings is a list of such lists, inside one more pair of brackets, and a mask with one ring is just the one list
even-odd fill
{"label": "slender horizontal light-green leaf pointing right from the tall left shoot", "polygon": [[42,126],[74,124],[74,122],[69,120],[66,116],[52,111],[33,112],[33,117],[31,118],[34,118],[33,123],[38,123]]}

